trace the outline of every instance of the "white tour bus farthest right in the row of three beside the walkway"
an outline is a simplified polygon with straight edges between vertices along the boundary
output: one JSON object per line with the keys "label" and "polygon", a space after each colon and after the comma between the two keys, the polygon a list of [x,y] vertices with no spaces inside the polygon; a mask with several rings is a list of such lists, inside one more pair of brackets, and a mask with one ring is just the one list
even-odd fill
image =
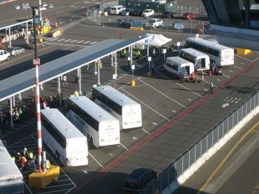
{"label": "white tour bus farthest right in the row of three beside the walkway", "polygon": [[120,121],[122,129],[142,129],[140,104],[111,86],[99,86],[92,90],[92,100]]}

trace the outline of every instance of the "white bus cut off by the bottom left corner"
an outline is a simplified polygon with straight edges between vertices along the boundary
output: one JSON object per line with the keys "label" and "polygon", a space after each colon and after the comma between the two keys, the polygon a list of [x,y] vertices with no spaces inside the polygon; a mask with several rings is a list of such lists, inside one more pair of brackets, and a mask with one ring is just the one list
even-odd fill
{"label": "white bus cut off by the bottom left corner", "polygon": [[0,140],[0,194],[21,194],[23,192],[22,174]]}

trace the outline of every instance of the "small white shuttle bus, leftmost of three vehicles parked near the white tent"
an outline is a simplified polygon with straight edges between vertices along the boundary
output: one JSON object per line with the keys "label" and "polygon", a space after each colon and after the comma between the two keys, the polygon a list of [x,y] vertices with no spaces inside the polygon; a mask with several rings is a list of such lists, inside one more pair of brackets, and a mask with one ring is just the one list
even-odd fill
{"label": "small white shuttle bus, leftmost of three vehicles parked near the white tent", "polygon": [[193,63],[180,57],[167,57],[163,65],[166,72],[171,73],[174,78],[187,79],[194,72]]}

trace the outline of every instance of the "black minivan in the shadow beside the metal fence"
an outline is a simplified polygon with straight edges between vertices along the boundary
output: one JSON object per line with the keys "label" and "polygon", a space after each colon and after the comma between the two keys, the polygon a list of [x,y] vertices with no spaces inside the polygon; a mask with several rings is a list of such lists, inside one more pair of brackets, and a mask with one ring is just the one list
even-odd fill
{"label": "black minivan in the shadow beside the metal fence", "polygon": [[141,192],[156,178],[157,173],[151,168],[138,167],[125,178],[124,189]]}

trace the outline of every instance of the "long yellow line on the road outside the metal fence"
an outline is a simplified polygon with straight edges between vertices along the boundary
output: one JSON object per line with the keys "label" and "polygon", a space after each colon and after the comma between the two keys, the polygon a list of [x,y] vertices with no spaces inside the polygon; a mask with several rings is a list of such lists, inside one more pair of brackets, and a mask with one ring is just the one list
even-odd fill
{"label": "long yellow line on the road outside the metal fence", "polygon": [[211,181],[213,177],[217,174],[217,172],[221,169],[221,167],[224,165],[224,163],[229,159],[229,157],[233,154],[233,152],[236,150],[236,148],[242,143],[244,138],[257,126],[259,125],[259,121],[251,128],[249,129],[235,144],[235,146],[232,147],[232,149],[227,153],[225,158],[220,162],[220,164],[217,166],[217,168],[214,170],[214,172],[210,175],[210,177],[207,179],[207,181],[203,184],[203,186],[199,189],[199,191],[196,194],[201,194],[203,190],[207,187],[208,183]]}

